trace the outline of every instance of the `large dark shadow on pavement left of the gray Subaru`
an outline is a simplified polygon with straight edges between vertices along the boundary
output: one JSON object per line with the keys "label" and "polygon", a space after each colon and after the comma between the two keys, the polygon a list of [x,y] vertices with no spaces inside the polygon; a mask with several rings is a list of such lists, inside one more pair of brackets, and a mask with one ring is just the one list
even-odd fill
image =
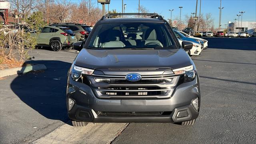
{"label": "large dark shadow on pavement left of the gray Subaru", "polygon": [[56,60],[29,63],[44,64],[47,70],[19,75],[11,83],[12,91],[42,116],[67,123],[66,85],[71,64]]}

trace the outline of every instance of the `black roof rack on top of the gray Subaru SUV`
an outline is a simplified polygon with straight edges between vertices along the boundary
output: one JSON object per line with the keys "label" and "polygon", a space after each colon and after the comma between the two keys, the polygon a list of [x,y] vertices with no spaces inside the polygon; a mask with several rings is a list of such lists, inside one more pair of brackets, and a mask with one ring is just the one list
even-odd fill
{"label": "black roof rack on top of the gray Subaru SUV", "polygon": [[113,18],[113,16],[150,16],[151,18],[158,18],[160,20],[164,20],[164,18],[162,16],[160,16],[159,14],[156,13],[109,13],[106,14],[105,16],[102,16],[101,20],[104,20],[106,18]]}

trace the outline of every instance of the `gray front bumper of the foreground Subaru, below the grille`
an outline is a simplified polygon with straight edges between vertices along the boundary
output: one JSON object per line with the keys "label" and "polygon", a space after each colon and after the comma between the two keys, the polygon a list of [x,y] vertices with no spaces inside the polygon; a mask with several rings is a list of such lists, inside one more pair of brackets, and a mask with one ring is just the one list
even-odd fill
{"label": "gray front bumper of the foreground Subaru, below the grille", "polygon": [[[170,98],[155,99],[102,99],[97,98],[90,86],[68,78],[67,100],[74,106],[68,112],[72,120],[86,122],[182,122],[196,119],[199,112],[191,101],[199,99],[199,77],[178,85]],[[177,118],[179,112],[188,116]],[[162,115],[100,115],[98,112],[164,112]]]}

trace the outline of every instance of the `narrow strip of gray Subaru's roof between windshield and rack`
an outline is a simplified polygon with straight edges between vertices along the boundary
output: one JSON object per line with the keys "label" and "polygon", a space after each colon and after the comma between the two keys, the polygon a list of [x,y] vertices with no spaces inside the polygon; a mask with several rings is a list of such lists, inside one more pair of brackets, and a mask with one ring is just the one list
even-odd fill
{"label": "narrow strip of gray Subaru's roof between windshield and rack", "polygon": [[109,23],[109,22],[160,22],[164,23],[163,20],[158,18],[106,18],[101,20],[100,23]]}

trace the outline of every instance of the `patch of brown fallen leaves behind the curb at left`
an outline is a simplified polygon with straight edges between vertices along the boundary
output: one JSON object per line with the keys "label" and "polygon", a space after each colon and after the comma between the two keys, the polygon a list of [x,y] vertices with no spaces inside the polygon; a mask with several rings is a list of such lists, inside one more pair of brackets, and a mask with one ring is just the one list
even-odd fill
{"label": "patch of brown fallen leaves behind the curb at left", "polygon": [[24,63],[24,61],[19,61],[16,59],[0,58],[0,70],[7,68],[18,68],[22,66],[28,66],[29,64]]}

